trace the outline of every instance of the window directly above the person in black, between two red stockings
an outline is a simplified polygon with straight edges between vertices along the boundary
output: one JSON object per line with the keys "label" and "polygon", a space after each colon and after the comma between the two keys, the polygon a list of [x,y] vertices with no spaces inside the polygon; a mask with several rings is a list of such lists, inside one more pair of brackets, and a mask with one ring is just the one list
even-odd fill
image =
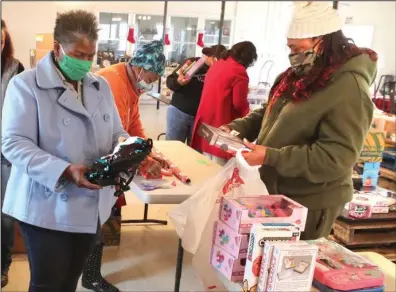
{"label": "window directly above the person in black, between two red stockings", "polygon": [[172,48],[168,55],[170,62],[181,63],[187,58],[195,57],[197,27],[198,18],[171,17],[169,39]]}

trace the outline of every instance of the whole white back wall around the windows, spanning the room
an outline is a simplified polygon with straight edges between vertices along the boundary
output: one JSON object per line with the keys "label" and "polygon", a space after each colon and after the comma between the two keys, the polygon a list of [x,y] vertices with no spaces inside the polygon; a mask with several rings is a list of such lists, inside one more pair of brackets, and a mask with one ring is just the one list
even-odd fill
{"label": "whole white back wall around the windows, spanning the room", "polygon": [[[372,48],[379,54],[379,74],[395,74],[395,1],[346,1],[353,24],[373,25]],[[16,57],[29,67],[29,50],[35,47],[35,35],[51,33],[56,12],[69,9],[86,9],[94,13],[129,12],[163,13],[163,2],[3,2],[2,18],[7,22],[14,41]],[[260,60],[249,70],[253,84],[257,84],[263,62],[275,58],[272,78],[287,66],[282,31],[287,25],[288,3],[280,1],[228,1],[225,17],[234,19],[234,43],[250,40],[256,44]],[[184,1],[169,2],[168,13],[177,16],[220,16],[221,2]],[[268,14],[268,12],[270,12]],[[267,25],[268,24],[268,25]]]}

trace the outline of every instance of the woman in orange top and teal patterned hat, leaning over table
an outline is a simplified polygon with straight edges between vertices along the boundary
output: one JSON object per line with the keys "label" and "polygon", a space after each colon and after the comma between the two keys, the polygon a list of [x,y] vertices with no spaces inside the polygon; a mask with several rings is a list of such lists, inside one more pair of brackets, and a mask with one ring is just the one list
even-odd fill
{"label": "woman in orange top and teal patterned hat, leaning over table", "polygon": [[[109,83],[122,125],[130,136],[146,138],[140,120],[139,97],[144,92],[150,91],[152,83],[164,73],[165,56],[162,51],[162,42],[153,41],[141,46],[128,63],[118,63],[97,72]],[[149,157],[141,166],[141,170],[150,173],[153,177],[159,177],[161,165]],[[119,210],[124,205],[126,205],[125,198],[120,196],[116,208]],[[83,271],[82,286],[97,292],[118,292],[119,290],[101,275],[102,254],[103,242],[99,234],[97,245]]]}

